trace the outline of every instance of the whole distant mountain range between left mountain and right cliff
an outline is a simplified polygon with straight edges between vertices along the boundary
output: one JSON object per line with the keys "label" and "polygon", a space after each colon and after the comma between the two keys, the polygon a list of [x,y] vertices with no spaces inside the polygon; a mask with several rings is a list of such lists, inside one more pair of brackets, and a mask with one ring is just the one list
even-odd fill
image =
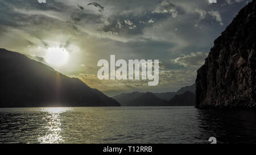
{"label": "whole distant mountain range between left mountain and right cliff", "polygon": [[123,93],[116,95],[121,106],[195,106],[196,85],[182,87],[177,92],[168,93]]}

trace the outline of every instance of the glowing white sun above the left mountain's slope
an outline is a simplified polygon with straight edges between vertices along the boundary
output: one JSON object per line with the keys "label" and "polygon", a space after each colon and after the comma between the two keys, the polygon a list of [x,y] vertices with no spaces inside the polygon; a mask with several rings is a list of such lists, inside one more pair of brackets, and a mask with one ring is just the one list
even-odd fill
{"label": "glowing white sun above the left mountain's slope", "polygon": [[48,48],[46,62],[55,66],[62,66],[68,61],[68,52],[65,48]]}

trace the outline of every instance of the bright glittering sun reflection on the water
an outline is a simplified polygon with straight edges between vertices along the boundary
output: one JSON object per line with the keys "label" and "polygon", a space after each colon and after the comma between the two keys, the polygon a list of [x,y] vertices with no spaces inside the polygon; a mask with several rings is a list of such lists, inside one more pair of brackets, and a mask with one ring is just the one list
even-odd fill
{"label": "bright glittering sun reflection on the water", "polygon": [[63,143],[63,137],[61,133],[61,116],[60,114],[66,111],[72,110],[72,108],[66,107],[54,107],[54,108],[39,108],[39,111],[46,112],[44,120],[46,120],[47,133],[44,136],[39,136],[38,142],[47,143]]}

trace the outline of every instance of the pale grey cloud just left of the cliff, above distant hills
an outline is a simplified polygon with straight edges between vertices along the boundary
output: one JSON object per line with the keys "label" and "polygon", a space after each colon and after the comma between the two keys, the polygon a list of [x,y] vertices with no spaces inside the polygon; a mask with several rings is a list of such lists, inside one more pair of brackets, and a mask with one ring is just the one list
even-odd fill
{"label": "pale grey cloud just left of the cliff, above distant hills", "polygon": [[175,64],[183,65],[188,68],[199,68],[204,64],[204,60],[208,53],[204,52],[192,52],[189,55],[177,57],[172,62]]}

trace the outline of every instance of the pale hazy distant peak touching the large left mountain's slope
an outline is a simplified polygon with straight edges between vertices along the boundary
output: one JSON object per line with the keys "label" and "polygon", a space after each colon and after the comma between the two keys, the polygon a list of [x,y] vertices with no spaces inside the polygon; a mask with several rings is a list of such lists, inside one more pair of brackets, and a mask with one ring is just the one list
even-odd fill
{"label": "pale hazy distant peak touching the large left mountain's slope", "polygon": [[117,100],[121,106],[127,106],[129,103],[133,102],[133,100],[141,97],[144,93],[140,93],[138,91],[134,91],[133,93],[123,93],[120,95],[116,95],[112,97],[113,99]]}

